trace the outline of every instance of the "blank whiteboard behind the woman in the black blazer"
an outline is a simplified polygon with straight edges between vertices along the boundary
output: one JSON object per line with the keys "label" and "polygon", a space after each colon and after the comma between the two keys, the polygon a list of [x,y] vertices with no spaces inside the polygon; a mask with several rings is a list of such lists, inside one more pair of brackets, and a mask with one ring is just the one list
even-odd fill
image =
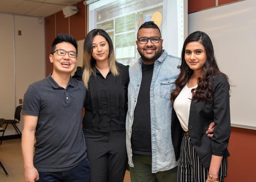
{"label": "blank whiteboard behind the woman in the black blazer", "polygon": [[188,15],[188,33],[206,32],[231,87],[232,126],[256,129],[256,1],[245,0]]}

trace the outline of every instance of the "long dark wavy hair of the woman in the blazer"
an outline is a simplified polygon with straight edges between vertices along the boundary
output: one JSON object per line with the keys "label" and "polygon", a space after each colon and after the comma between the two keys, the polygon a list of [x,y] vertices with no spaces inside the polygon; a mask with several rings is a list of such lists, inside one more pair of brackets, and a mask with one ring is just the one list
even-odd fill
{"label": "long dark wavy hair of the woman in the blazer", "polygon": [[[201,68],[202,76],[198,78],[197,88],[191,90],[192,100],[195,99],[196,102],[211,100],[212,78],[215,75],[218,75],[218,74],[225,75],[227,78],[227,82],[229,83],[229,78],[227,77],[227,75],[219,71],[219,68],[214,56],[213,45],[210,37],[204,32],[200,32],[200,31],[193,32],[189,36],[187,36],[183,44],[182,53],[181,53],[181,65],[178,66],[178,68],[180,69],[180,75],[175,81],[176,88],[171,93],[172,104],[175,98],[181,92],[182,88],[186,85],[187,81],[189,81],[189,78],[192,76],[194,72],[192,69],[189,68],[189,66],[185,61],[185,48],[187,44],[194,41],[197,41],[204,46],[207,59],[203,67]],[[204,95],[204,92],[206,92],[207,89],[208,91],[206,95]]]}

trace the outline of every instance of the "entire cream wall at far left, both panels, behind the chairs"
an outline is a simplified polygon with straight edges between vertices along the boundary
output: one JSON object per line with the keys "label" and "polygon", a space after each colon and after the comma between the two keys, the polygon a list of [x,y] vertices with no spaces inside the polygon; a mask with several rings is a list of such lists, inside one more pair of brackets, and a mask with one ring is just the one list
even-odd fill
{"label": "entire cream wall at far left, both panels, behind the chairs", "polygon": [[[1,25],[6,33],[2,33]],[[8,43],[0,44],[0,50],[7,51],[2,60],[8,62],[2,64],[1,61],[0,79],[8,86],[4,92],[0,91],[0,117],[13,119],[15,107],[20,105],[19,99],[23,99],[28,85],[45,76],[44,23],[38,23],[34,17],[0,14],[0,41],[2,37]],[[22,130],[22,120],[18,128]],[[7,129],[5,135],[15,134],[11,125]]]}

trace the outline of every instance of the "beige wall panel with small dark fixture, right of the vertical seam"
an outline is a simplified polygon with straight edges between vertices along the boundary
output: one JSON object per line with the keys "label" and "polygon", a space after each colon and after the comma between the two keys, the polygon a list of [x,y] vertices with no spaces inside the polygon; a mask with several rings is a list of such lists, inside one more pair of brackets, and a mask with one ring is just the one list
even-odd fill
{"label": "beige wall panel with small dark fixture, right of the vertical seam", "polygon": [[[21,30],[21,35],[18,35]],[[29,84],[45,77],[44,23],[38,18],[15,16],[16,104]],[[20,129],[23,128],[21,121]]]}

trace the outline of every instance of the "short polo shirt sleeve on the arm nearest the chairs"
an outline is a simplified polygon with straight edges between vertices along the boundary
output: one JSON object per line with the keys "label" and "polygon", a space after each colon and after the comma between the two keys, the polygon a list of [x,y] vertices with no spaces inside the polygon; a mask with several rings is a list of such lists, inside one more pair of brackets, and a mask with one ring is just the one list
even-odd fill
{"label": "short polo shirt sleeve on the arm nearest the chairs", "polygon": [[29,85],[26,93],[24,94],[22,114],[39,116],[39,112],[40,112],[40,96],[37,90],[32,85]]}

